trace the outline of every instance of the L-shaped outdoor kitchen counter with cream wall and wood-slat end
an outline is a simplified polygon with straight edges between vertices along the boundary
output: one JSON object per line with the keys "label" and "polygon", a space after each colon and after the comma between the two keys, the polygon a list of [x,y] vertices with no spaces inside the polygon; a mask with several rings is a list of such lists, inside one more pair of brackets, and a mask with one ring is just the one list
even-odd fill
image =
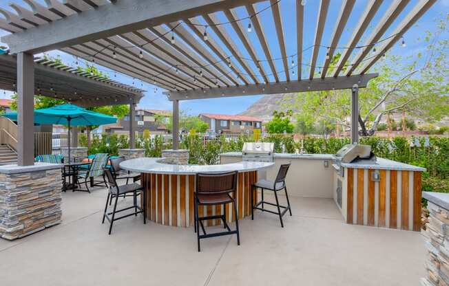
{"label": "L-shaped outdoor kitchen counter with cream wall and wood-slat end", "polygon": [[[220,155],[221,164],[242,159],[242,152]],[[379,157],[344,163],[333,154],[273,153],[272,161],[267,179],[290,163],[289,195],[333,199],[346,223],[419,231],[424,168]]]}

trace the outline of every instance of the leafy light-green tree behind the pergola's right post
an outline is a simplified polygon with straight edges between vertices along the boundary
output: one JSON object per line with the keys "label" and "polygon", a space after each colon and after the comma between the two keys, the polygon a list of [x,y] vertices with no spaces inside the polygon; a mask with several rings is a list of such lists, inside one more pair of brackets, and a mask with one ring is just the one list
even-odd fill
{"label": "leafy light-green tree behind the pergola's right post", "polygon": [[[373,135],[388,113],[404,113],[404,118],[407,113],[429,122],[449,114],[448,20],[439,21],[434,32],[419,39],[426,50],[417,57],[390,55],[375,66],[379,77],[359,89],[361,135]],[[331,66],[339,58],[336,54]],[[306,122],[319,118],[349,129],[350,107],[351,91],[333,90],[297,94],[294,109],[295,115],[306,118]]]}

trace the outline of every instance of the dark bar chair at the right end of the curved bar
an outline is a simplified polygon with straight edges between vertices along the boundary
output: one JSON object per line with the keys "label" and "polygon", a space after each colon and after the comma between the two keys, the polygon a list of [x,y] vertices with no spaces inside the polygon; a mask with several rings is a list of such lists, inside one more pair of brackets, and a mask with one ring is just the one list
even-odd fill
{"label": "dark bar chair at the right end of the curved bar", "polygon": [[[254,219],[254,210],[262,210],[263,212],[270,212],[272,214],[278,214],[279,220],[281,222],[281,227],[284,228],[284,223],[282,222],[282,217],[284,217],[284,214],[289,210],[290,216],[291,216],[291,208],[290,208],[290,201],[289,201],[289,194],[287,194],[287,188],[285,185],[285,177],[287,175],[287,172],[289,171],[290,164],[282,164],[279,168],[278,175],[276,176],[276,179],[274,181],[269,181],[267,179],[260,179],[252,186],[252,190],[257,191],[257,188],[261,189],[261,195],[262,200],[258,203],[255,203],[255,205],[251,208],[251,219]],[[270,203],[269,201],[264,201],[264,190],[271,190],[274,192],[274,197],[276,199],[276,203]],[[285,197],[287,199],[287,206],[281,206],[279,204],[278,199],[278,191],[284,190],[285,191]],[[250,192],[251,199],[250,201],[253,201],[253,191]],[[267,210],[267,208],[264,208],[264,203],[267,203],[267,205],[275,206],[278,208],[278,212],[273,212],[272,210]],[[262,205],[262,208],[259,208],[259,206]],[[281,212],[281,208],[282,210]]]}

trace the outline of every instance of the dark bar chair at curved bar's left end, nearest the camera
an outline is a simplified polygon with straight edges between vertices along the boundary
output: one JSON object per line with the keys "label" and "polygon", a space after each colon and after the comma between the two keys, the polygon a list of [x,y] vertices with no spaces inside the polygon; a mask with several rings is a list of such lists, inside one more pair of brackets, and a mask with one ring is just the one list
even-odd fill
{"label": "dark bar chair at curved bar's left end, nearest the camera", "polygon": [[[140,206],[137,205],[137,193],[138,192],[141,193],[141,197],[142,197],[143,201],[145,201],[147,198],[147,195],[145,195],[145,188],[143,188],[142,186],[140,186],[139,184],[136,184],[136,183],[118,186],[116,179],[114,178],[114,175],[112,175],[111,170],[109,170],[109,168],[103,167],[103,172],[105,173],[105,175],[107,177],[107,184],[109,186],[109,192],[107,192],[105,212],[103,212],[103,221],[101,221],[101,223],[105,223],[105,219],[107,219],[107,221],[109,221],[109,234],[111,234],[111,232],[112,232],[112,225],[114,224],[114,221],[118,221],[118,219],[124,219],[125,217],[130,217],[133,214],[135,216],[137,216],[137,214],[143,213],[143,223],[146,224],[147,223],[147,210],[145,209],[145,207],[141,208]],[[121,195],[127,195],[127,194],[134,195],[133,205],[129,206],[127,208],[122,208],[121,210],[117,210],[118,197]],[[109,201],[110,197],[115,197],[114,208],[113,208],[112,212],[107,212],[107,205],[108,205],[108,201]],[[134,208],[134,212],[132,212],[130,214],[125,214],[121,217],[116,217],[117,212],[123,212],[125,210],[130,210],[132,208]],[[109,217],[110,215],[112,215],[112,217]]]}

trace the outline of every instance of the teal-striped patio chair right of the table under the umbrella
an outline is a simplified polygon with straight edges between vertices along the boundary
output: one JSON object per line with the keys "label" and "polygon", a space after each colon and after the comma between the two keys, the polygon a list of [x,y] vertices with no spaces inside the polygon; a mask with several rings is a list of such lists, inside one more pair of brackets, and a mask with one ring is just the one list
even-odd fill
{"label": "teal-striped patio chair right of the table under the umbrella", "polygon": [[[76,175],[76,181],[77,184],[80,185],[80,179],[83,180],[83,183],[86,186],[86,190],[83,190],[81,188],[77,188],[76,190],[80,190],[83,192],[90,192],[89,186],[87,186],[87,180],[90,180],[90,186],[107,186],[106,180],[105,180],[105,172],[103,168],[107,164],[107,159],[109,158],[109,155],[107,153],[97,153],[92,160],[92,163],[89,165],[89,169],[87,170],[80,170],[78,174]],[[103,181],[95,181],[95,177],[103,177]],[[104,185],[102,185],[104,184]]]}

